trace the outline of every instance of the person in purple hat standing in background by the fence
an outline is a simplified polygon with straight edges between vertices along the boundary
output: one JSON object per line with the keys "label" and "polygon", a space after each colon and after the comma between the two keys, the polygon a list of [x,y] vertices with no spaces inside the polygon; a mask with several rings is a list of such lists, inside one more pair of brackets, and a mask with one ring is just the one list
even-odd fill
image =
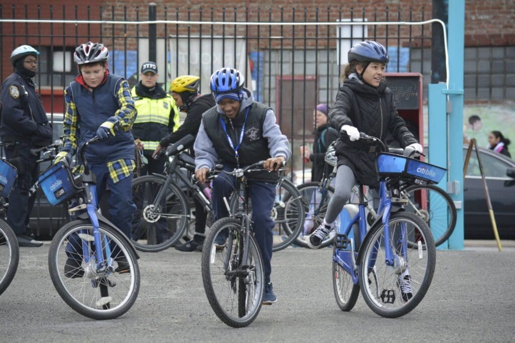
{"label": "person in purple hat standing in background by the fence", "polygon": [[327,115],[331,108],[327,104],[318,104],[315,111],[315,141],[313,143],[313,152],[310,152],[306,146],[300,147],[300,153],[304,160],[313,162],[311,167],[311,180],[320,181],[323,178],[324,170],[327,168],[324,156],[329,145],[338,139],[338,131],[329,127]]}

